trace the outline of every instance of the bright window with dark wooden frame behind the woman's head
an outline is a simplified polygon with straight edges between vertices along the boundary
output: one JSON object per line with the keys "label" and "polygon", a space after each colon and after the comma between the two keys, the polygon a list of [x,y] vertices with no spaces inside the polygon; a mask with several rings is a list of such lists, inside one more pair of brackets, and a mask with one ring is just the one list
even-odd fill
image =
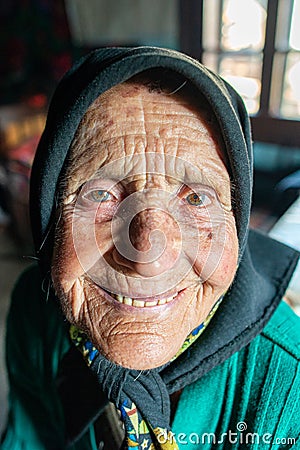
{"label": "bright window with dark wooden frame behind the woman's head", "polygon": [[182,0],[181,17],[182,50],[242,95],[254,139],[299,146],[300,0]]}

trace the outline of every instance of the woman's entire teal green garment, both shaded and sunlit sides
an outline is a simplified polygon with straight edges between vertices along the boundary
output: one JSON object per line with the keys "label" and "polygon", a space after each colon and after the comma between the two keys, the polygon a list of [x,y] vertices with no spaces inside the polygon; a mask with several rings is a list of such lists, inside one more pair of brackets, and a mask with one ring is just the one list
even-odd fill
{"label": "woman's entire teal green garment, both shaded and sunlit sides", "polygon": [[[76,444],[64,444],[56,376],[71,344],[66,322],[46,295],[35,268],[13,293],[7,335],[10,415],[1,449],[96,450],[93,427]],[[179,448],[300,448],[299,359],[300,319],[282,302],[248,346],[183,390],[172,425]]]}

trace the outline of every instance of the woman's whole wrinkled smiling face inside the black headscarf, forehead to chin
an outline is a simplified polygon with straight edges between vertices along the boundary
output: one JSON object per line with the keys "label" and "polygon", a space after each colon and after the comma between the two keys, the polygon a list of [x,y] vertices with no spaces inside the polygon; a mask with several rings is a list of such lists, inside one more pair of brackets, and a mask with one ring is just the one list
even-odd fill
{"label": "woman's whole wrinkled smiling face inside the black headscarf, forehead to chin", "polygon": [[234,278],[230,181],[210,122],[191,99],[124,83],[72,144],[53,283],[67,319],[124,367],[168,362]]}

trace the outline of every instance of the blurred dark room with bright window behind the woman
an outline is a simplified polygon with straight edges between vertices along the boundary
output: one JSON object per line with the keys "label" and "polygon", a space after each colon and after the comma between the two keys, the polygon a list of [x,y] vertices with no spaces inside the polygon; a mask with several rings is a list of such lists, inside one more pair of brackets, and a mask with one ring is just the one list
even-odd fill
{"label": "blurred dark room with bright window behind the woman", "polygon": [[[59,79],[77,58],[107,45],[174,48],[218,72],[251,115],[251,225],[300,248],[300,0],[6,0],[0,21],[1,431],[5,317],[33,254],[30,170]],[[295,302],[299,284],[295,278]]]}

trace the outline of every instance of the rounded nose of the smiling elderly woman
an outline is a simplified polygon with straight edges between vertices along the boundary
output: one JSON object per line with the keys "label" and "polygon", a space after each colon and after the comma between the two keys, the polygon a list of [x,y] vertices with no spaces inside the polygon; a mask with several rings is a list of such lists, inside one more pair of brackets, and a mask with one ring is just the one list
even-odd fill
{"label": "rounded nose of the smiling elderly woman", "polygon": [[172,268],[181,250],[181,233],[167,212],[149,208],[134,216],[128,238],[115,249],[114,260],[144,277],[160,275]]}

